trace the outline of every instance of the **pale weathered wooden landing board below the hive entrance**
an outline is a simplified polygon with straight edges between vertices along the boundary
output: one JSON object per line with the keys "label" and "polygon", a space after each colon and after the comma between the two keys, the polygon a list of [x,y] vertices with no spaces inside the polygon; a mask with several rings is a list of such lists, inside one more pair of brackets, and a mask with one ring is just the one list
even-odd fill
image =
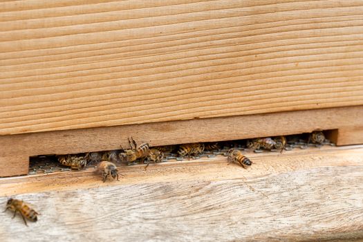
{"label": "pale weathered wooden landing board below the hive entrance", "polygon": [[1,241],[359,241],[363,146],[252,153],[93,171],[1,178],[9,196],[41,212],[29,227],[0,213]]}

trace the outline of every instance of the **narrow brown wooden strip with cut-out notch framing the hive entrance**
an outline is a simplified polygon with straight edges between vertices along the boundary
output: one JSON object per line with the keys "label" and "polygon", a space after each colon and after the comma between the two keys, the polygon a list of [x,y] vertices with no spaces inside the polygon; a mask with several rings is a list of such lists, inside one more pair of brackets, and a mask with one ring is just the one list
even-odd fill
{"label": "narrow brown wooden strip with cut-out notch framing the hive entrance", "polygon": [[[0,176],[19,175],[19,169],[27,171],[27,167],[17,165],[28,164],[29,156],[120,149],[120,145],[127,147],[131,136],[138,142],[158,146],[308,133],[315,129],[353,131],[362,125],[363,106],[351,106],[0,136],[0,157],[18,157],[21,153],[24,159],[10,167],[6,159],[0,160],[3,167],[8,167],[0,169]],[[362,143],[359,135],[346,133],[339,137],[344,138],[341,145]],[[339,137],[331,138],[339,144]]]}

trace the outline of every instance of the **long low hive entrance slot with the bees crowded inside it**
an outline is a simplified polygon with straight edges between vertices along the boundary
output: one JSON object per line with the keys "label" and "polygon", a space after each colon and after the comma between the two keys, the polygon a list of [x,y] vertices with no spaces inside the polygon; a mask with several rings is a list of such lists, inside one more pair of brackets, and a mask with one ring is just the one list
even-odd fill
{"label": "long low hive entrance slot with the bees crowded inside it", "polygon": [[[150,163],[199,160],[201,158],[203,158],[203,161],[207,161],[210,160],[209,158],[217,156],[224,156],[228,162],[241,160],[242,163],[237,163],[246,168],[253,163],[248,158],[251,152],[281,153],[292,149],[314,149],[324,145],[335,146],[333,142],[326,138],[323,131],[290,136],[166,145],[162,147],[151,147],[149,144],[142,142],[138,145],[133,138],[129,138],[129,145],[130,149],[120,147],[120,149],[111,151],[31,157],[29,175],[95,170],[102,161],[111,162],[115,167],[145,164],[146,169]],[[239,159],[230,158],[231,149],[236,150],[234,154],[239,152]],[[243,159],[241,159],[242,157]]]}

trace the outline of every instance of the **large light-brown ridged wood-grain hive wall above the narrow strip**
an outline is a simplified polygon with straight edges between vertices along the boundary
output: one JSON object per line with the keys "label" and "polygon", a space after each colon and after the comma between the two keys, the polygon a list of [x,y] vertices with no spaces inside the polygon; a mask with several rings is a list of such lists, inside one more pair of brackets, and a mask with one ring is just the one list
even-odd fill
{"label": "large light-brown ridged wood-grain hive wall above the narrow strip", "polygon": [[363,104],[363,1],[0,3],[0,135]]}

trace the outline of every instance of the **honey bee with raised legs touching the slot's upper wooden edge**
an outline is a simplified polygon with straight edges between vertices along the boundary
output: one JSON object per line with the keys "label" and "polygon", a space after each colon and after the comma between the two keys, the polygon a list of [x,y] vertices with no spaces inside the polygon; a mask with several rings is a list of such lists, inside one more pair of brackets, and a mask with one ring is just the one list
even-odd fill
{"label": "honey bee with raised legs touching the slot's upper wooden edge", "polygon": [[140,158],[147,158],[149,154],[149,144],[148,143],[142,143],[141,145],[137,145],[136,141],[133,140],[131,137],[131,140],[129,139],[129,144],[131,149],[123,149],[123,152],[119,153],[120,160],[124,162],[133,162],[135,160],[138,160]]}

